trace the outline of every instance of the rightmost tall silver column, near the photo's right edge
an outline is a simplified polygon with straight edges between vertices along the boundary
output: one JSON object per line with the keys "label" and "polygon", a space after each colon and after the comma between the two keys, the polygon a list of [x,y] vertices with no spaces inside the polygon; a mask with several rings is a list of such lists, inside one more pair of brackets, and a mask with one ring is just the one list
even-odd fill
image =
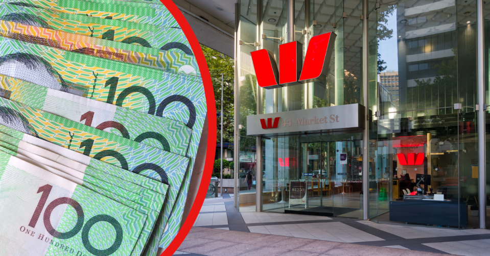
{"label": "rightmost tall silver column, near the photo's right edge", "polygon": [[486,218],[486,173],[485,173],[485,72],[483,49],[483,0],[477,0],[477,35],[478,35],[478,199],[480,206],[480,228],[485,228]]}

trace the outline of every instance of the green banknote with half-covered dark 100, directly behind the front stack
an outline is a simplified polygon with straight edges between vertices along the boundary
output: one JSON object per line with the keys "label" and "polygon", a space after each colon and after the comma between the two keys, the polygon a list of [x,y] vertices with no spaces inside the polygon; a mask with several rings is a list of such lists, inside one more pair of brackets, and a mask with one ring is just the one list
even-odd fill
{"label": "green banknote with half-covered dark 100, directly behind the front stack", "polygon": [[[170,188],[180,188],[188,166],[189,160],[185,157],[138,144],[5,98],[0,98],[0,123],[68,149],[72,147],[76,151],[78,147],[86,156],[96,159],[114,158],[124,169],[144,173],[144,176],[167,183]],[[60,143],[63,139],[66,142]],[[87,140],[89,143],[86,143]],[[95,147],[100,148],[94,150]],[[94,155],[92,151],[99,152]],[[169,189],[166,204],[173,205],[177,193]]]}

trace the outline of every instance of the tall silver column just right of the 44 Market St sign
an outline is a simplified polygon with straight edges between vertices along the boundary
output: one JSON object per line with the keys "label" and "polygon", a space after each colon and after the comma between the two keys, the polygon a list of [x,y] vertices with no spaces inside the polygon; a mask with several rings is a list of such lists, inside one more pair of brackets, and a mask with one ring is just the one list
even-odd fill
{"label": "tall silver column just right of the 44 Market St sign", "polygon": [[[483,1],[483,0],[480,0]],[[369,116],[368,116],[368,74],[367,74],[367,64],[368,64],[368,52],[367,52],[367,0],[362,0],[362,93],[363,93],[363,104],[365,106],[364,112],[364,131],[362,132],[362,204],[363,204],[363,219],[368,219],[368,199],[369,199]]]}

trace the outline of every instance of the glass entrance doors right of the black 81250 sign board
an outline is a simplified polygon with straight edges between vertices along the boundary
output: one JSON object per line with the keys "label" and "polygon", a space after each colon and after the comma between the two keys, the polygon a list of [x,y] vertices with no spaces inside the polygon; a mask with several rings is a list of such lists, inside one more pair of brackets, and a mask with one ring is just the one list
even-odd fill
{"label": "glass entrance doors right of the black 81250 sign board", "polygon": [[305,184],[306,202],[286,212],[361,218],[361,141],[300,144],[298,181]]}

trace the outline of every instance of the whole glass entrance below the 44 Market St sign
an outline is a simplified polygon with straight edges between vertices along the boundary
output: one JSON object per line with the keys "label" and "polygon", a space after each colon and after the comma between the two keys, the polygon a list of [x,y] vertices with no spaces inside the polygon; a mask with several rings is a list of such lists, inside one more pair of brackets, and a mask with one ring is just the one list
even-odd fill
{"label": "whole glass entrance below the 44 Market St sign", "polygon": [[362,218],[362,133],[263,139],[263,211]]}

